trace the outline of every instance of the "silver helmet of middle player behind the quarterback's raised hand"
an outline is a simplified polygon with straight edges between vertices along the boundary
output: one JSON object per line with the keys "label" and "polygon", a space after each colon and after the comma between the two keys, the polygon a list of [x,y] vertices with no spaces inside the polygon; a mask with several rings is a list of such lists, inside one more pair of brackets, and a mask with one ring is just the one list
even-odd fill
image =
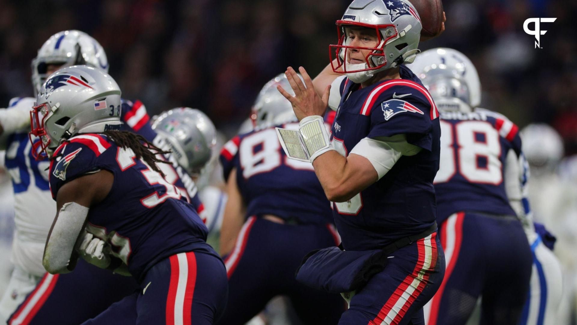
{"label": "silver helmet of middle player behind the quarterback's raised hand", "polygon": [[[300,73],[297,73],[297,75],[303,80]],[[270,126],[297,119],[294,115],[293,106],[288,99],[279,93],[278,89],[276,89],[277,86],[283,87],[287,93],[294,96],[294,90],[284,73],[280,73],[280,75],[269,80],[258,93],[256,101],[254,101],[252,114],[250,115],[253,127]]]}

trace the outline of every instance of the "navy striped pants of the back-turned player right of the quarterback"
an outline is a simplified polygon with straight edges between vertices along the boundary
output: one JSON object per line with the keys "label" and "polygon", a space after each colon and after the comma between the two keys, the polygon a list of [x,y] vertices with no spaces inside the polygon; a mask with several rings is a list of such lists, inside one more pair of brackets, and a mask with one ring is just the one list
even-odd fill
{"label": "navy striped pants of the back-turned player right of the quarterback", "polygon": [[482,296],[481,324],[518,324],[531,248],[516,217],[459,212],[440,226],[445,279],[425,308],[428,325],[465,324]]}

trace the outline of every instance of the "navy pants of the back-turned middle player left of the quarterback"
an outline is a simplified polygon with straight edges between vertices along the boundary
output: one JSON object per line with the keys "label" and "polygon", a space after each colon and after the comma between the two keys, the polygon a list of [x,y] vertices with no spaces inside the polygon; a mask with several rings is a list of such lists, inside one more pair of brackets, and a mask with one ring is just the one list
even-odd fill
{"label": "navy pants of the back-turned middle player left of the quarterback", "polygon": [[290,298],[303,323],[336,324],[344,311],[343,299],[298,283],[294,274],[311,250],[339,241],[328,225],[293,226],[249,217],[224,260],[229,293],[219,324],[244,324],[279,295]]}

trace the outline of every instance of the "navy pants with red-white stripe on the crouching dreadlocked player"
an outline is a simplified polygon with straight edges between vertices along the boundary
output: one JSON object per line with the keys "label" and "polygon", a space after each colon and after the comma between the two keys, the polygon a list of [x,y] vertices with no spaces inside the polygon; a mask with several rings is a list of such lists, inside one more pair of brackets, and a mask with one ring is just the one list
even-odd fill
{"label": "navy pants with red-white stripe on the crouching dreadlocked player", "polygon": [[220,258],[178,253],[149,269],[136,293],[83,324],[212,325],[226,300],[226,269]]}

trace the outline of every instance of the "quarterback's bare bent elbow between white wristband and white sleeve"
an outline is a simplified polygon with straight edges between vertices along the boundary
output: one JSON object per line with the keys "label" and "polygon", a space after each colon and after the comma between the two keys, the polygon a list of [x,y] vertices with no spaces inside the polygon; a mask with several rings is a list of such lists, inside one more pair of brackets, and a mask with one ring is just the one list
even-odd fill
{"label": "quarterback's bare bent elbow between white wristband and white sleeve", "polygon": [[325,195],[332,202],[348,201],[379,179],[370,162],[356,154],[343,157],[331,150],[317,157],[313,167]]}

